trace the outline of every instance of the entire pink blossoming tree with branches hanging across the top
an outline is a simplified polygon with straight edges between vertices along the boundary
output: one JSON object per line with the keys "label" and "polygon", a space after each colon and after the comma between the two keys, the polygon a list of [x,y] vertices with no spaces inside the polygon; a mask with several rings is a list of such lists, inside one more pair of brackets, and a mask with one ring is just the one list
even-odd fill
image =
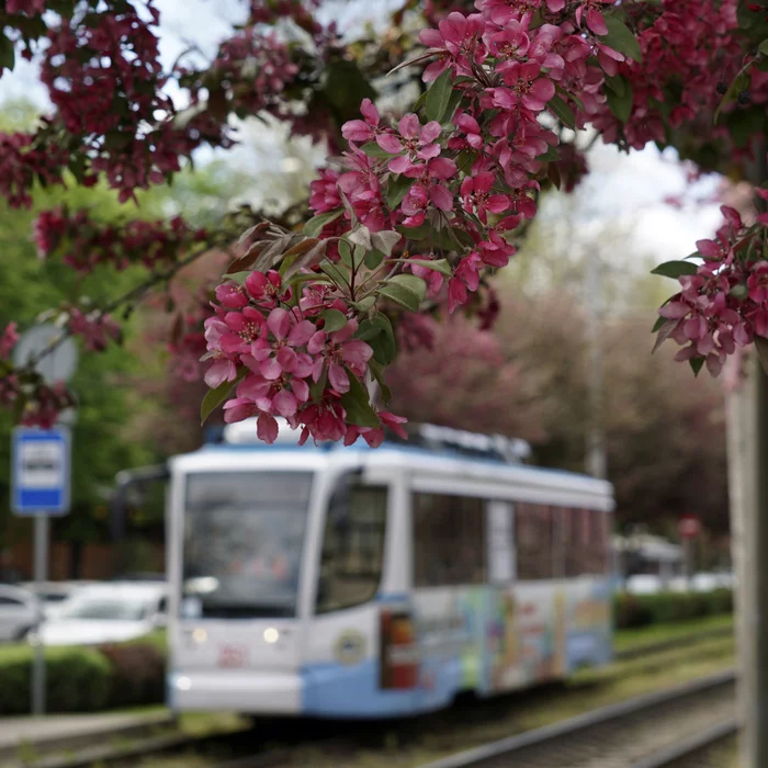
{"label": "entire pink blossoming tree with branches hanging across the top", "polygon": [[[55,108],[34,133],[0,135],[0,194],[11,206],[30,205],[35,184],[100,180],[131,201],[197,147],[230,146],[230,115],[269,113],[334,154],[301,222],[242,210],[211,231],[181,217],[108,227],[59,208],[35,229],[42,258],[81,273],[148,272],[127,295],[56,310],[93,350],[118,336],[116,309],[212,248],[228,249],[211,302],[180,324],[173,346],[203,351],[203,417],[219,405],[228,421],[256,416],[268,442],[276,416],[303,440],[376,445],[385,427],[403,431],[386,406],[396,338],[418,343],[418,313],[443,307],[493,323],[488,278],[513,258],[542,189],[571,190],[586,171],[574,132],[626,150],[674,146],[703,171],[744,174],[765,159],[763,1],[404,0],[392,32],[371,45],[343,44],[314,18],[317,4],[251,0],[248,23],[212,61],[195,68],[182,57],[170,70],[153,0],[0,7],[0,70],[36,57]],[[417,13],[418,41],[402,32]],[[304,42],[287,42],[285,24]],[[387,70],[423,86],[406,114],[374,103],[371,79]],[[183,111],[167,95],[170,81],[188,94]],[[768,337],[768,214],[723,215],[715,239],[656,270],[679,282],[658,341],[673,339],[678,359],[714,375],[737,348]],[[71,395],[13,368],[15,332],[1,337],[0,402],[26,423],[49,425]]]}

